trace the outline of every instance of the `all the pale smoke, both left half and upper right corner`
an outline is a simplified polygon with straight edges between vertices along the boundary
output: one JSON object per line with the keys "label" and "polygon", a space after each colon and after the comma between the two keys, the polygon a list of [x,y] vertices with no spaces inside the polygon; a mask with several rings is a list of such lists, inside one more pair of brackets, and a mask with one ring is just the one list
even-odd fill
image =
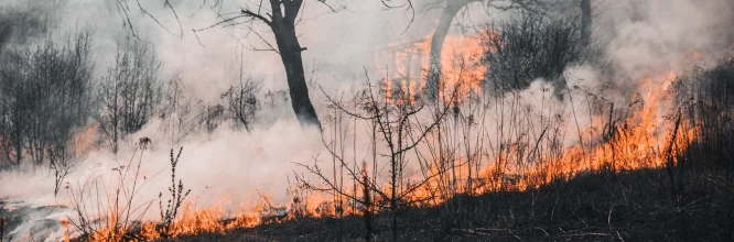
{"label": "all the pale smoke, both left half and upper right corner", "polygon": [[[13,19],[15,13],[24,13],[31,20],[40,21],[41,15],[53,10],[54,24],[51,25],[52,31],[48,31],[52,38],[63,38],[68,32],[84,29],[93,31],[93,52],[96,53],[98,74],[114,62],[118,45],[131,37],[132,29],[139,38],[154,46],[163,63],[164,76],[179,76],[185,94],[191,95],[193,100],[216,103],[222,92],[238,80],[240,68],[245,76],[262,80],[263,94],[260,95],[285,88],[280,57],[274,52],[252,51],[268,46],[251,31],[237,26],[208,28],[222,20],[218,14],[227,16],[237,12],[238,4],[225,2],[220,9],[213,9],[207,2],[202,6],[201,1],[180,1],[172,6],[179,16],[176,20],[171,9],[159,1],[140,1],[147,13],[140,11],[137,2],[127,2],[130,8],[128,15],[121,14],[116,1],[57,1],[44,11],[31,11],[36,8],[32,6],[2,4],[7,11],[2,11],[0,18],[0,51],[11,45],[30,45],[23,37],[44,33],[43,28],[33,31],[34,34],[20,33],[17,28],[3,25],[7,19]],[[730,28],[734,22],[734,4],[728,0],[598,2],[595,4],[594,37],[611,64],[608,68],[613,68],[617,76],[604,76],[606,72],[593,65],[569,66],[564,76],[569,87],[603,90],[598,95],[612,100],[616,107],[627,105],[632,95],[628,90],[635,90],[639,79],[670,70],[683,70],[687,52],[701,53],[704,56],[702,65],[711,65],[728,53],[728,46],[734,40],[734,30]],[[365,78],[363,67],[373,70],[368,74],[371,77],[381,76],[379,68],[373,69],[377,48],[388,43],[427,36],[440,13],[440,10],[419,12],[411,28],[406,31],[411,19],[409,12],[386,11],[380,1],[344,4],[347,9],[333,13],[328,7],[306,1],[296,31],[301,45],[307,47],[303,52],[306,73],[313,73],[316,85],[328,95],[344,94],[345,97],[360,88]],[[481,8],[473,8],[468,13],[461,18],[463,23],[481,25],[490,20]],[[251,26],[266,41],[274,43],[265,25]],[[199,29],[206,30],[192,31]],[[456,29],[453,28],[462,32]],[[518,96],[522,103],[531,103],[536,110],[552,106],[553,112],[572,112],[569,101],[552,99],[551,103],[546,103],[551,100],[548,97],[553,94],[552,88],[552,85],[539,79]],[[324,117],[326,102],[321,90],[311,89],[311,95],[316,110]],[[575,99],[573,106],[583,107],[584,101],[582,98]],[[272,108],[263,107],[259,116],[272,118],[260,118],[251,133],[224,123],[212,133],[194,133],[180,142],[172,142],[161,132],[165,128],[163,121],[153,120],[140,132],[129,135],[118,154],[112,154],[101,144],[99,148],[80,157],[67,182],[72,188],[90,179],[101,179],[111,186],[115,182],[114,168],[136,157],[136,142],[147,136],[153,142],[142,155],[142,176],[148,182],[134,204],[156,201],[159,193],[165,194],[170,186],[169,154],[171,148],[177,151],[179,147],[183,147],[183,154],[176,177],[183,179],[186,188],[192,189],[192,197],[197,197],[199,206],[214,206],[223,199],[230,199],[229,209],[237,209],[240,201],[257,199],[258,189],[272,195],[274,202],[287,204],[288,176],[294,170],[302,172],[294,163],[313,163],[315,157],[326,155],[327,152],[317,131],[304,131],[298,125],[288,102],[280,102]],[[573,125],[583,130],[590,125],[592,118],[579,116]],[[573,133],[574,130],[569,129],[572,132],[566,135],[566,144],[578,142],[579,135]],[[358,138],[365,138],[367,131],[360,129],[355,133]],[[328,138],[334,133],[326,130],[323,135]],[[368,152],[368,140],[359,139],[356,143],[355,147],[347,148],[356,148],[355,153],[361,155]],[[60,196],[54,197],[53,185],[53,176],[45,168],[28,173],[0,172],[0,198],[23,202],[25,207],[68,205],[72,199],[68,193],[62,190]],[[147,218],[154,219],[156,209],[158,205],[153,202]],[[40,216],[30,211],[32,216],[29,216],[28,221],[48,218],[47,213],[37,212]],[[54,216],[63,218],[56,211]],[[32,226],[25,226],[10,233],[20,238],[31,231]]]}

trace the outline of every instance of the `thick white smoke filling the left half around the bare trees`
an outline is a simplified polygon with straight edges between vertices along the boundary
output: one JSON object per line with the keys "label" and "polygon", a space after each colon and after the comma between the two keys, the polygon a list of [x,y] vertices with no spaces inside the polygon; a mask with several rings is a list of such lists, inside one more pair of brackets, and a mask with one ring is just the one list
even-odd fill
{"label": "thick white smoke filling the left half around the bare trees", "polygon": [[[100,76],[107,66],[114,64],[120,45],[128,38],[140,38],[154,47],[164,66],[164,78],[177,76],[183,91],[194,102],[202,100],[206,105],[215,105],[229,85],[238,80],[240,68],[244,76],[263,80],[263,94],[260,95],[285,88],[284,70],[278,54],[249,50],[267,47],[252,33],[234,26],[208,28],[222,20],[219,13],[237,12],[237,6],[222,6],[219,11],[211,9],[209,3],[202,7],[201,2],[182,1],[173,6],[179,15],[176,20],[170,8],[158,2],[140,1],[147,13],[138,8],[136,1],[123,2],[129,4],[128,15],[122,15],[121,7],[116,1],[54,2],[47,8],[55,16],[52,30],[45,35],[37,34],[37,41],[52,38],[63,42],[69,33],[90,30],[96,76]],[[301,44],[309,48],[304,52],[306,72],[313,73],[313,78],[319,78],[317,85],[330,91],[349,91],[354,84],[361,84],[361,77],[357,79],[356,74],[361,72],[363,66],[373,65],[373,50],[382,45],[387,36],[399,36],[399,31],[402,31],[390,22],[398,19],[406,26],[408,23],[402,21],[407,16],[378,8],[379,2],[350,3],[349,10],[337,13],[328,12],[315,1],[306,4],[298,26]],[[12,8],[8,12],[28,13],[32,18],[45,13],[33,12],[30,7],[20,3],[9,2],[3,7]],[[183,28],[183,32],[179,26]],[[390,31],[386,31],[386,26]],[[253,24],[252,28],[274,44],[263,24]],[[206,30],[194,33],[192,29]],[[9,40],[3,43],[13,42],[19,48],[33,44],[20,40],[35,35],[19,33],[17,29],[11,31],[3,34],[11,36],[3,37]],[[131,36],[133,31],[137,36]],[[323,96],[319,98],[319,89],[312,89],[312,96],[323,100]],[[143,136],[150,138],[153,143],[142,153],[140,176],[145,185],[132,204],[140,206],[155,201],[145,219],[156,219],[159,215],[159,193],[165,195],[170,186],[169,154],[171,148],[177,151],[179,147],[183,147],[183,154],[176,177],[183,179],[185,188],[192,189],[190,199],[196,199],[197,206],[211,207],[229,199],[226,206],[234,212],[240,202],[259,199],[257,190],[272,195],[276,204],[287,204],[284,188],[288,187],[288,176],[296,168],[293,163],[312,162],[312,157],[324,153],[323,143],[319,132],[300,128],[288,102],[278,102],[261,112],[273,118],[256,123],[257,129],[251,133],[223,123],[213,133],[193,133],[175,143],[162,132],[166,124],[152,120],[141,131],[123,140],[118,154],[114,154],[106,143],[100,143],[97,150],[79,157],[58,196],[53,194],[54,177],[46,167],[22,167],[21,170],[28,170],[22,173],[3,170],[0,173],[0,198],[19,202],[13,204],[17,208],[2,208],[3,215],[13,215],[13,211],[24,215],[19,217],[23,226],[9,228],[9,234],[13,238],[36,234],[35,239],[46,238],[48,241],[60,239],[63,233],[57,221],[74,215],[68,207],[54,207],[53,213],[48,213],[46,208],[51,205],[71,206],[71,193],[94,182],[101,185],[95,191],[101,197],[112,193],[117,188],[116,168],[126,165],[129,160],[139,158],[139,153],[134,153],[136,142]],[[106,200],[88,202],[88,206],[95,207]],[[56,222],[50,224],[48,220]]]}

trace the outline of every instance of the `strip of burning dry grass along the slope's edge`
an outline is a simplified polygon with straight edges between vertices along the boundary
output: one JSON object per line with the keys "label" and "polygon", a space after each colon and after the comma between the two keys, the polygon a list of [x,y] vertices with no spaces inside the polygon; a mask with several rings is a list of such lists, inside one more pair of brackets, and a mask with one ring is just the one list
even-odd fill
{"label": "strip of burning dry grass along the slope's edge", "polygon": [[[600,170],[607,170],[608,174],[617,176],[627,170],[640,168],[676,167],[678,158],[697,140],[701,129],[700,125],[683,120],[680,112],[666,118],[667,112],[663,111],[663,107],[674,107],[672,96],[666,92],[668,91],[666,87],[669,87],[677,79],[677,75],[668,74],[640,81],[638,91],[644,95],[637,96],[638,99],[629,105],[630,114],[604,113],[604,117],[608,117],[608,119],[600,118],[602,116],[591,119],[590,127],[578,133],[579,142],[572,145],[559,146],[561,142],[559,138],[551,138],[550,133],[552,131],[550,129],[553,125],[555,128],[563,127],[561,120],[555,120],[559,123],[552,124],[549,121],[546,123],[547,127],[533,139],[529,138],[530,134],[514,136],[514,142],[503,141],[503,144],[496,146],[499,150],[496,151],[496,155],[476,155],[475,152],[479,150],[492,150],[493,147],[482,147],[476,141],[468,142],[475,144],[475,147],[466,145],[467,143],[451,146],[451,142],[454,141],[452,138],[456,134],[450,132],[461,131],[461,129],[452,129],[451,125],[467,125],[464,131],[467,133],[482,132],[478,129],[484,128],[479,128],[481,125],[476,123],[462,123],[458,117],[452,121],[451,117],[446,116],[449,121],[439,119],[435,131],[432,128],[422,127],[425,133],[423,135],[425,143],[417,142],[415,147],[417,151],[418,148],[429,151],[429,155],[425,155],[428,158],[423,156],[425,160],[421,160],[420,153],[417,153],[415,158],[424,162],[420,169],[408,172],[406,168],[400,168],[406,166],[403,164],[407,163],[401,162],[407,162],[407,160],[397,161],[400,156],[400,154],[396,154],[398,152],[392,152],[392,156],[388,156],[392,157],[393,162],[398,162],[395,167],[402,169],[396,168],[396,170],[387,174],[396,174],[397,177],[393,180],[380,182],[385,174],[370,170],[368,165],[363,163],[361,168],[355,169],[364,170],[357,173],[359,176],[356,178],[363,179],[363,177],[371,176],[374,177],[373,182],[367,182],[368,179],[358,182],[355,177],[349,177],[348,174],[352,172],[344,169],[342,173],[346,172],[346,175],[335,175],[334,178],[322,176],[324,183],[331,183],[326,186],[303,178],[300,179],[300,183],[306,186],[299,186],[298,189],[292,190],[292,202],[284,207],[273,206],[267,196],[262,196],[261,202],[256,206],[242,206],[239,212],[233,215],[220,206],[202,208],[197,207],[195,201],[188,201],[182,207],[181,216],[168,226],[165,223],[144,222],[136,227],[105,227],[90,233],[87,239],[91,241],[118,241],[127,238],[150,241],[165,238],[186,238],[196,234],[224,234],[228,231],[256,228],[263,224],[288,224],[306,218],[364,216],[366,205],[374,206],[374,209],[369,211],[370,213],[385,215],[388,211],[396,212],[396,208],[398,208],[396,205],[399,205],[402,209],[434,208],[449,206],[449,204],[464,195],[488,196],[496,193],[530,193],[558,180],[571,180],[579,175]],[[515,101],[515,99],[509,99],[509,101]],[[395,105],[395,102],[386,105],[377,107],[388,107]],[[404,107],[411,106],[408,102],[402,105]],[[444,108],[455,110],[454,106],[445,106]],[[611,110],[615,111],[613,108]],[[382,114],[391,113],[387,110],[384,111]],[[447,113],[447,111],[443,113]],[[356,116],[356,113],[353,114]],[[396,117],[401,118],[401,116]],[[571,117],[569,118],[572,120]],[[379,122],[392,123],[391,120]],[[525,132],[531,132],[532,130],[526,125],[528,123],[531,123],[530,120],[515,119],[507,121],[506,124],[515,129],[525,127],[527,129]],[[575,127],[573,123],[568,123],[568,121],[565,125]],[[390,128],[392,132],[406,131],[406,136],[402,136],[404,140],[411,138],[407,131],[408,129],[408,127]],[[462,135],[472,138],[467,133]],[[380,133],[380,135],[386,135],[385,139],[388,139],[388,136],[398,139],[393,136],[395,134]],[[412,135],[417,134],[412,133]],[[376,140],[375,142],[378,143],[379,141]],[[443,144],[440,144],[442,142]],[[489,143],[490,141],[485,142]],[[396,147],[396,151],[409,151],[406,150],[407,145],[409,144],[402,144],[402,146]],[[456,150],[466,152],[461,154]],[[332,150],[332,154],[337,160],[344,160],[334,152]],[[342,167],[353,165],[346,162],[335,163],[335,166]],[[313,166],[310,170],[314,174],[321,173],[321,169],[316,166]],[[337,178],[341,180],[337,180]],[[343,185],[344,179],[347,180],[347,185]],[[369,189],[361,191],[364,187],[369,187]],[[309,193],[309,190],[311,191]],[[366,201],[364,200],[365,195],[371,195],[374,198]],[[108,221],[108,224],[121,224],[120,217],[116,213],[110,213],[105,220]]]}

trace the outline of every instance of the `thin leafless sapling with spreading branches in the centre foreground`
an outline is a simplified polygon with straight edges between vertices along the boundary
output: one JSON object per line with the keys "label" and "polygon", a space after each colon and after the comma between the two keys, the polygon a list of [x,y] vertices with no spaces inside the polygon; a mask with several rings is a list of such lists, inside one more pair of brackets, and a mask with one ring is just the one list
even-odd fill
{"label": "thin leafless sapling with spreading branches in the centre foreground", "polygon": [[[374,178],[369,179],[366,177],[366,172],[361,172],[355,161],[352,162],[354,164],[349,164],[350,162],[343,153],[343,147],[328,143],[326,140],[324,140],[324,145],[330,152],[331,157],[335,160],[334,169],[336,169],[336,164],[338,164],[341,170],[343,169],[342,172],[355,183],[355,186],[359,185],[364,189],[374,194],[375,197],[358,197],[356,189],[344,187],[343,180],[341,180],[343,179],[343,176],[334,175],[333,178],[328,178],[319,163],[314,163],[313,165],[301,164],[301,166],[309,170],[310,174],[315,175],[322,185],[310,183],[304,176],[300,175],[296,175],[296,179],[310,189],[331,193],[337,197],[347,197],[365,207],[390,209],[392,212],[392,240],[397,241],[398,209],[403,206],[414,205],[415,202],[420,202],[420,199],[424,199],[413,198],[411,195],[436,175],[428,174],[420,180],[409,180],[409,177],[403,173],[408,164],[407,154],[421,144],[441,123],[441,120],[450,113],[450,110],[453,110],[451,106],[447,105],[452,102],[449,101],[440,106],[429,106],[421,101],[411,102],[409,101],[411,98],[407,90],[381,90],[380,88],[373,86],[369,78],[366,81],[366,86],[367,89],[361,91],[349,102],[349,106],[354,108],[349,108],[347,107],[348,103],[332,99],[328,96],[327,98],[332,109],[345,113],[353,119],[371,123],[371,127],[374,127],[373,142],[375,142],[375,153],[373,156],[375,163],[374,167],[377,167],[378,160],[388,160],[389,178],[386,182],[388,186],[382,187],[382,184],[385,183],[378,180],[376,175],[378,173],[377,170],[373,170],[375,174],[373,176]],[[390,91],[390,95],[396,97],[397,101],[391,100],[391,98],[386,98],[384,95],[380,95],[380,91],[375,91],[376,89]],[[455,96],[452,96],[451,98],[455,98]],[[432,109],[432,111],[429,111],[430,109]],[[431,112],[430,116],[432,119],[428,122],[419,121],[418,116],[425,114],[425,112]],[[377,144],[380,143],[380,141],[384,142],[382,144],[387,153],[378,153],[376,151]],[[344,141],[337,140],[334,142]],[[339,172],[335,172],[335,174],[338,173]],[[353,193],[349,190],[353,190]],[[364,191],[363,194],[368,193]],[[377,200],[385,202],[376,202]],[[343,209],[343,206],[344,204],[339,202],[337,208]]]}

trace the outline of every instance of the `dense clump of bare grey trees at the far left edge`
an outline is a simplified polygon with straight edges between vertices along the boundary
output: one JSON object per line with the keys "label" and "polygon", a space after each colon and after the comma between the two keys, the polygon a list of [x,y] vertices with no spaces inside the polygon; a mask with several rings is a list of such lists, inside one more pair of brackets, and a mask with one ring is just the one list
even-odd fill
{"label": "dense clump of bare grey trees at the far left edge", "polygon": [[0,140],[6,156],[36,165],[50,150],[63,150],[89,114],[89,33],[66,46],[51,41],[13,53],[1,67]]}

